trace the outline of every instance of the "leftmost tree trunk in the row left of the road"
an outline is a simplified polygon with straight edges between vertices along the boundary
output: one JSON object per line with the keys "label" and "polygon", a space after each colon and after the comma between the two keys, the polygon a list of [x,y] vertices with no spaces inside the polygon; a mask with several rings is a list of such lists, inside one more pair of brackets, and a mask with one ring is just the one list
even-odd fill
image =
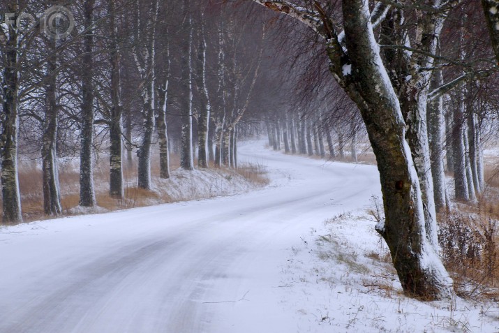
{"label": "leftmost tree trunk in the row left of the road", "polygon": [[[8,3],[10,13],[18,13],[17,1]],[[1,44],[3,63],[3,112],[1,120],[1,184],[3,223],[17,224],[22,222],[21,197],[17,173],[17,130],[19,126],[19,69],[17,58],[19,47],[17,29],[8,27],[8,39]]]}

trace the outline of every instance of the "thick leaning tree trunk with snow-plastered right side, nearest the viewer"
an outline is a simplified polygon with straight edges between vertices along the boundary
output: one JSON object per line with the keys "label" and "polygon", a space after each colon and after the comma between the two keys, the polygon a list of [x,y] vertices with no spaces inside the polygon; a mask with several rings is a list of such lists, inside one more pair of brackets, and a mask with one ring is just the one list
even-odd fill
{"label": "thick leaning tree trunk with snow-plastered right side, nearest the viewer", "polygon": [[452,280],[427,235],[406,124],[375,42],[368,1],[344,0],[343,17],[357,88],[348,92],[361,110],[380,171],[386,219],[377,230],[389,246],[405,293],[424,299],[448,297]]}

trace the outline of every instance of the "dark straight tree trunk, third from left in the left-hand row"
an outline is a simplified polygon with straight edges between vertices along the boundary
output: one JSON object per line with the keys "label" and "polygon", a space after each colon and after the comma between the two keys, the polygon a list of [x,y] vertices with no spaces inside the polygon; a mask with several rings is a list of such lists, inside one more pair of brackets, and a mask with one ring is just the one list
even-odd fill
{"label": "dark straight tree trunk, third from left in the left-hand row", "polygon": [[94,190],[94,166],[92,148],[94,146],[94,3],[95,0],[84,2],[84,29],[87,33],[83,37],[85,53],[83,55],[82,73],[82,139],[80,151],[80,206],[94,207],[96,195]]}

